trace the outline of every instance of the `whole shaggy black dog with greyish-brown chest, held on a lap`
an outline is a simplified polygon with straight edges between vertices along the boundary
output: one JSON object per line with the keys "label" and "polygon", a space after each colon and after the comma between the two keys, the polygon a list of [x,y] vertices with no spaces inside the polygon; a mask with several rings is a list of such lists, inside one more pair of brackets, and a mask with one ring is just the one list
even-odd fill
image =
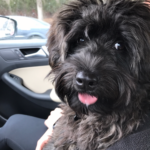
{"label": "whole shaggy black dog with greyish-brown chest, held on a lap", "polygon": [[48,47],[65,104],[45,149],[107,149],[143,123],[150,109],[148,4],[71,2],[56,15]]}

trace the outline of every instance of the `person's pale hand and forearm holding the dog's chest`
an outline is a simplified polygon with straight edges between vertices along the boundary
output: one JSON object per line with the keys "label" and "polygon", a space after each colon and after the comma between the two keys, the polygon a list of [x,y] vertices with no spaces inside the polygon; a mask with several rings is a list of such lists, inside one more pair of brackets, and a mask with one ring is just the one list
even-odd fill
{"label": "person's pale hand and forearm holding the dog's chest", "polygon": [[54,111],[51,111],[50,116],[45,120],[45,125],[48,127],[48,130],[38,140],[36,150],[42,150],[44,145],[49,141],[53,133],[53,125],[61,116],[62,109],[56,108]]}

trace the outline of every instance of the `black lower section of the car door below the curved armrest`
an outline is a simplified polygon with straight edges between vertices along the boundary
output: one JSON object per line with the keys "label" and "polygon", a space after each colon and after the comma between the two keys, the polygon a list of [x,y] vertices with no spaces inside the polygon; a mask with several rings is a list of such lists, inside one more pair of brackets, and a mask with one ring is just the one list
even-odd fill
{"label": "black lower section of the car door below the curved armrest", "polygon": [[52,109],[33,103],[2,80],[0,80],[0,85],[2,87],[0,90],[0,115],[6,120],[14,114],[31,115],[44,119],[50,114]]}

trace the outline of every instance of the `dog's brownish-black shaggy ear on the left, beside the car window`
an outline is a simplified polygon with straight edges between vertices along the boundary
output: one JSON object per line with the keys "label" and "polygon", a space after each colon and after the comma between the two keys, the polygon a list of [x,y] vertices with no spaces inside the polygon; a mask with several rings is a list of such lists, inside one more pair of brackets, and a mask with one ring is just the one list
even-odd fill
{"label": "dog's brownish-black shaggy ear on the left, beside the car window", "polygon": [[62,63],[66,57],[67,42],[66,35],[71,28],[71,23],[78,18],[78,10],[81,2],[72,2],[64,5],[55,14],[48,37],[49,63],[52,68]]}

